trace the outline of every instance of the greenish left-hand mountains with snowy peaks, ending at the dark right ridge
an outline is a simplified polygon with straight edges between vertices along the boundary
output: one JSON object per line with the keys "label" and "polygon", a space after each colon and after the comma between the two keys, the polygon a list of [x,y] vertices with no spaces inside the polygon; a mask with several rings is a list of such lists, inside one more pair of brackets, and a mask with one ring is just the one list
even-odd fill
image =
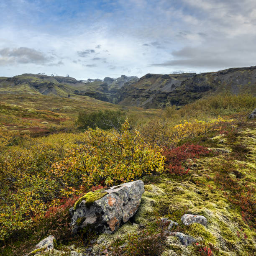
{"label": "greenish left-hand mountains with snowy peaks, ending at the dark right ridge", "polygon": [[77,80],[72,77],[22,74],[15,77],[0,77],[0,94],[43,94],[69,97],[85,95],[98,100],[114,102],[115,94],[125,82],[138,81],[138,77]]}

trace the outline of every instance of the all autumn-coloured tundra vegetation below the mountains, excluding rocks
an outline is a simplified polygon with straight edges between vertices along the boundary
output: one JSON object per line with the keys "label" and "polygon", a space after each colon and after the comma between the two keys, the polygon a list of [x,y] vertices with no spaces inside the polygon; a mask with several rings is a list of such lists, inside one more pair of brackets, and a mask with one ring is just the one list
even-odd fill
{"label": "all autumn-coloured tundra vegetation below the mountains, excluding rocks", "polygon": [[[0,96],[1,255],[23,255],[50,234],[67,255],[71,244],[87,248],[96,238],[104,241],[96,254],[255,253],[256,121],[247,116],[256,97],[218,95],[155,110],[85,97],[71,104]],[[131,222],[114,234],[72,236],[69,208],[81,197],[135,179],[146,185]],[[207,227],[183,225],[185,213],[203,215]],[[166,236],[163,217],[197,243]]]}

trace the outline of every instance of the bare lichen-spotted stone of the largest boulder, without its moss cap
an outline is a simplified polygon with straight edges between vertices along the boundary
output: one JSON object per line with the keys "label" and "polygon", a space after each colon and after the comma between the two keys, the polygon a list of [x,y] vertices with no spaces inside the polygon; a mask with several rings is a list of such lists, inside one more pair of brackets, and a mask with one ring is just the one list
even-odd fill
{"label": "bare lichen-spotted stone of the largest boulder, without its moss cap", "polygon": [[141,195],[144,192],[144,183],[141,180],[128,182],[119,186],[105,189],[107,195],[95,200],[90,205],[86,200],[69,212],[72,215],[71,227],[73,233],[79,228],[89,225],[96,231],[117,230],[121,223],[127,222],[138,210]]}

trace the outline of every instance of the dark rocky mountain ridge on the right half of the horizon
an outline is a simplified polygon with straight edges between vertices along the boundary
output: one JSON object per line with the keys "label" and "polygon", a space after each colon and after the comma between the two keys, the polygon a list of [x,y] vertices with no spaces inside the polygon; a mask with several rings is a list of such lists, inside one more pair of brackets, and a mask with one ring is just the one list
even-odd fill
{"label": "dark rocky mountain ridge on the right half of the horizon", "polygon": [[118,104],[144,108],[185,105],[211,94],[231,92],[256,96],[256,66],[218,72],[146,74],[126,83],[118,92]]}

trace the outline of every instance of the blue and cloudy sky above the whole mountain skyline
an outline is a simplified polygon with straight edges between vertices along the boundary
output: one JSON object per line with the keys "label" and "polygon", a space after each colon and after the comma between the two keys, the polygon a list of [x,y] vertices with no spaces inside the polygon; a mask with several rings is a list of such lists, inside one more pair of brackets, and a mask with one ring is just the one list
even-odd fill
{"label": "blue and cloudy sky above the whole mountain skyline", "polygon": [[255,0],[0,0],[0,76],[256,65]]}

